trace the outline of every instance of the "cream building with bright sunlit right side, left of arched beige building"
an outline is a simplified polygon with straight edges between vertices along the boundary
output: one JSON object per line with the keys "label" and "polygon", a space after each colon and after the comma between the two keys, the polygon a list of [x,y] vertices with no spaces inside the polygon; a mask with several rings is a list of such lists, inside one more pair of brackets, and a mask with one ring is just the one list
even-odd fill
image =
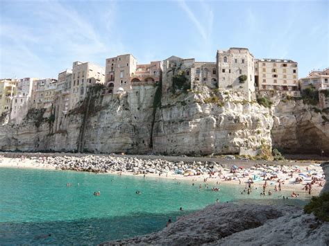
{"label": "cream building with bright sunlit right side, left of arched beige building", "polygon": [[103,67],[90,62],[74,62],[72,67],[69,108],[76,107],[77,103],[85,99],[90,86],[103,84],[104,78],[105,71]]}

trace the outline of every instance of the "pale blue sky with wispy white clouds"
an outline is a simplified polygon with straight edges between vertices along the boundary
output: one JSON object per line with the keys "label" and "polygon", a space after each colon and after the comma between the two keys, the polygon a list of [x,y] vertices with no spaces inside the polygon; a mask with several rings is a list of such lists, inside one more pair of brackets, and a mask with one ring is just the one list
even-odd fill
{"label": "pale blue sky with wispy white clouds", "polygon": [[329,67],[329,1],[0,0],[0,78],[57,78],[126,53],[215,62],[230,47],[294,60],[300,78]]}

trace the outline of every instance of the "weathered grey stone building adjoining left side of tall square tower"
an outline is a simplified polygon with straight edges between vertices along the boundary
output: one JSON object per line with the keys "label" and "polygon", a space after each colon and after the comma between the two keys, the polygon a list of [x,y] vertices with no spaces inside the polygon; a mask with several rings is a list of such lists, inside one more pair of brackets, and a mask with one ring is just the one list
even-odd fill
{"label": "weathered grey stone building adjoining left side of tall square tower", "polygon": [[183,74],[187,78],[189,89],[197,85],[207,85],[210,88],[217,88],[217,64],[215,62],[196,62],[194,58],[183,59],[172,55],[163,61],[162,72],[162,93],[173,87],[173,77]]}

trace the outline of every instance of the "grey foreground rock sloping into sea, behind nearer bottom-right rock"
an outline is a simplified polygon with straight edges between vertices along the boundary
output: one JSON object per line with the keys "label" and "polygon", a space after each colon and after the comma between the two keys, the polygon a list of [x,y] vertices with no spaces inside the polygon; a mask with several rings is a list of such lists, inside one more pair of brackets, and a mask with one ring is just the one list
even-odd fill
{"label": "grey foreground rock sloping into sea, behind nearer bottom-right rock", "polygon": [[[162,231],[116,240],[104,243],[104,245],[217,244],[217,240],[221,238],[238,234],[239,231],[260,227],[270,220],[296,213],[298,210],[296,207],[289,206],[214,204],[196,213],[178,218],[176,222]],[[264,236],[264,232],[259,235]],[[247,240],[247,238],[244,239]]]}

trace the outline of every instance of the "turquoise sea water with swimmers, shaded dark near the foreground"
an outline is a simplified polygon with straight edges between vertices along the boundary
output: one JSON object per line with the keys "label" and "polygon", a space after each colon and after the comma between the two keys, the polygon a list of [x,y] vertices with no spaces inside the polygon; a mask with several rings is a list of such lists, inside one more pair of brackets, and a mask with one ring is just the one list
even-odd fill
{"label": "turquoise sea water with swimmers, shaded dark near the foreground", "polygon": [[[72,186],[67,186],[67,183]],[[275,193],[241,195],[244,186],[60,170],[0,168],[0,245],[96,244],[163,229],[169,218],[220,202],[305,204]],[[94,196],[100,191],[100,196]],[[141,195],[135,192],[141,191]],[[305,197],[306,199],[306,197]],[[183,211],[179,208],[183,207]],[[46,236],[51,234],[51,236]]]}

